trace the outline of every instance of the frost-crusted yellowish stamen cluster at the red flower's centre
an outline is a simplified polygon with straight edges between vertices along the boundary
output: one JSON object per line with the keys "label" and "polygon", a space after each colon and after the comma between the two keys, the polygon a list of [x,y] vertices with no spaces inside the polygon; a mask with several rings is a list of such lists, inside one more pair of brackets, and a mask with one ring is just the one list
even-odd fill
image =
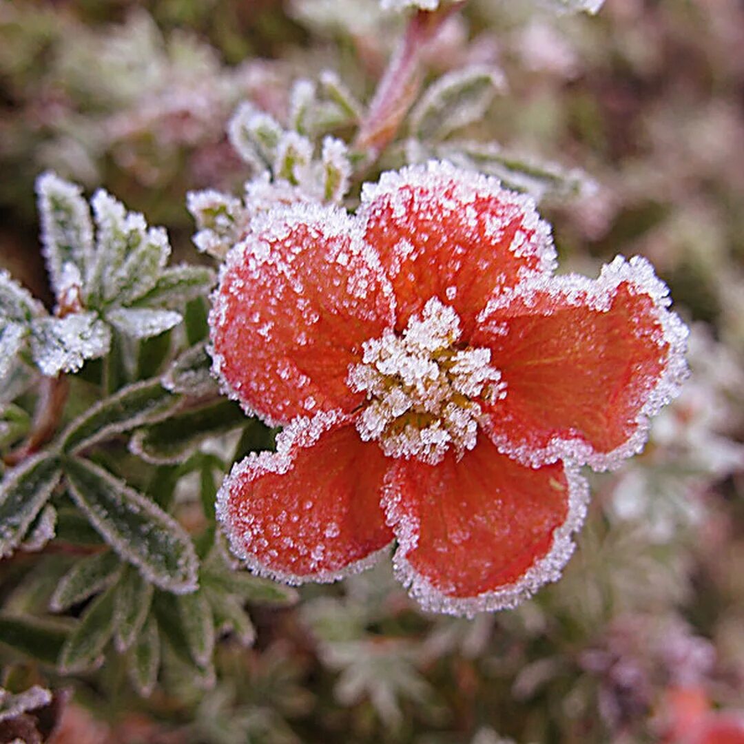
{"label": "frost-crusted yellowish stamen cluster at the red flower's centre", "polygon": [[376,439],[385,455],[436,464],[449,447],[461,457],[475,446],[483,410],[478,400],[506,395],[488,349],[460,342],[457,312],[437,298],[414,315],[399,336],[385,330],[362,344],[362,362],[347,383],[367,394],[356,423],[363,440]]}

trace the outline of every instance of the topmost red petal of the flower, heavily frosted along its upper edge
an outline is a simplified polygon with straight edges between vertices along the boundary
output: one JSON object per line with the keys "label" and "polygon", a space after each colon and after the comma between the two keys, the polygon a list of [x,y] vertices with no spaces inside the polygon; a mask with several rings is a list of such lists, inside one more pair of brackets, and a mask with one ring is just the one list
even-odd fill
{"label": "topmost red petal of the flower, heavily frosted along its upper edge", "polygon": [[358,214],[393,283],[398,330],[437,297],[467,336],[493,292],[555,267],[550,227],[529,196],[446,163],[383,173],[365,185]]}

